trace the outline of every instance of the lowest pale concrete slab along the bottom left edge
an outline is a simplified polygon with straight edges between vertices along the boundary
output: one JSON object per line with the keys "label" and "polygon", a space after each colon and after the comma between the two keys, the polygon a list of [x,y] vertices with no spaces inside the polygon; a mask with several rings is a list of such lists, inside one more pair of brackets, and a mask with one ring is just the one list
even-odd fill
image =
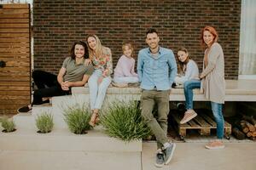
{"label": "lowest pale concrete slab along the bottom left edge", "polygon": [[137,152],[2,150],[4,170],[142,170]]}

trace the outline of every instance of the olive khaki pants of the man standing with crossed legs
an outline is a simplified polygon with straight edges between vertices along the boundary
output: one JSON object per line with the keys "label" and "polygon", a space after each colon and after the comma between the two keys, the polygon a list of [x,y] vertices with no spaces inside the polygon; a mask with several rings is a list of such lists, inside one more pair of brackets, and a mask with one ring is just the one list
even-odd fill
{"label": "olive khaki pants of the man standing with crossed legs", "polygon": [[[153,89],[143,90],[141,97],[142,116],[152,133],[154,133],[158,149],[168,142],[166,134],[167,116],[169,113],[169,95],[170,90],[157,91]],[[157,105],[156,117],[154,117],[152,113],[154,105]]]}

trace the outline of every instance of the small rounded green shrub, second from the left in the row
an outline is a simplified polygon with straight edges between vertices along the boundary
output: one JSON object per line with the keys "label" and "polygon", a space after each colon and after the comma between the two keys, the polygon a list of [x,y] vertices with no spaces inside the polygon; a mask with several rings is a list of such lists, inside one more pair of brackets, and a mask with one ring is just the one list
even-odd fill
{"label": "small rounded green shrub, second from the left in the row", "polygon": [[54,126],[53,116],[47,112],[39,115],[36,119],[36,125],[38,127],[38,133],[49,133]]}

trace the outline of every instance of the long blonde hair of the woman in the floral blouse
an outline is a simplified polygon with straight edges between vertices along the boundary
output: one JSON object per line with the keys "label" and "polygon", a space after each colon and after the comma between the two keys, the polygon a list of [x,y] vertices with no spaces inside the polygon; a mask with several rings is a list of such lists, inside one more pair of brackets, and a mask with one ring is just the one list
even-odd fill
{"label": "long blonde hair of the woman in the floral blouse", "polygon": [[96,50],[94,51],[93,49],[90,48],[89,44],[88,44],[88,48],[89,48],[89,57],[90,59],[93,58],[93,56],[96,56],[96,58],[99,58],[102,54],[103,54],[103,46],[102,46],[102,42],[99,39],[99,37],[97,37],[94,34],[90,34],[86,37],[86,42],[88,43],[88,38],[89,37],[94,37],[96,39]]}

